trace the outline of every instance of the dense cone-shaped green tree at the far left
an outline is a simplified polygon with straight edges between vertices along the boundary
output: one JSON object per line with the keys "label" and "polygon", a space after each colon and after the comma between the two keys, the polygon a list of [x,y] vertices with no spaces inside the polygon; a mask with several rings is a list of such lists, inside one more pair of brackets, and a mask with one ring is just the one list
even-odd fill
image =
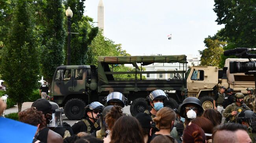
{"label": "dense cone-shaped green tree at the far left", "polygon": [[20,111],[39,80],[39,54],[33,34],[31,4],[17,0],[15,5],[6,47],[1,51],[0,72],[8,85],[7,94],[17,102]]}

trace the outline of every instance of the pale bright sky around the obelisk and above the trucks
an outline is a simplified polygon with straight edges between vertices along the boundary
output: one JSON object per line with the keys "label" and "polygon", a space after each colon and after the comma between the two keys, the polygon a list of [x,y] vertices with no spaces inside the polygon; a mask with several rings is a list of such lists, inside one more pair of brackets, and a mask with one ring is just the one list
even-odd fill
{"label": "pale bright sky around the obelisk and above the trucks", "polygon": [[[85,13],[97,22],[100,0],[86,0]],[[104,36],[132,56],[193,54],[217,25],[214,0],[103,0]],[[95,23],[95,26],[97,24]],[[171,40],[167,35],[172,34]]]}

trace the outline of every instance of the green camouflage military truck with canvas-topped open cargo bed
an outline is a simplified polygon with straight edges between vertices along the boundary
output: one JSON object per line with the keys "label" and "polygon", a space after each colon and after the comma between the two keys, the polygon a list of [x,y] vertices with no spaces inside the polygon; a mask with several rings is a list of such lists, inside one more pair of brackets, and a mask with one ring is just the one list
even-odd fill
{"label": "green camouflage military truck with canvas-topped open cargo bed", "polygon": [[[152,63],[180,63],[181,71],[140,71]],[[51,84],[51,100],[60,107],[69,119],[82,119],[84,107],[92,101],[103,101],[111,92],[121,92],[131,105],[132,115],[148,109],[145,100],[156,89],[166,91],[169,101],[166,106],[176,108],[184,100],[186,80],[186,56],[112,56],[98,57],[98,65],[59,66]],[[113,72],[113,65],[132,64],[135,71]],[[182,69],[182,67],[181,67]],[[134,79],[115,79],[114,74],[135,74]],[[179,78],[143,79],[142,74],[174,74]]]}

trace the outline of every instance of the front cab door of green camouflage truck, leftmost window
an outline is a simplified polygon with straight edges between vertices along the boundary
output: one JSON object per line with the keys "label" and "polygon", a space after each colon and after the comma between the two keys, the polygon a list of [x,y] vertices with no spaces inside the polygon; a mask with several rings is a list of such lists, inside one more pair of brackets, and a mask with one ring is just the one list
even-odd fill
{"label": "front cab door of green camouflage truck, leftmost window", "polygon": [[72,69],[58,69],[54,77],[54,96],[63,96],[73,91]]}

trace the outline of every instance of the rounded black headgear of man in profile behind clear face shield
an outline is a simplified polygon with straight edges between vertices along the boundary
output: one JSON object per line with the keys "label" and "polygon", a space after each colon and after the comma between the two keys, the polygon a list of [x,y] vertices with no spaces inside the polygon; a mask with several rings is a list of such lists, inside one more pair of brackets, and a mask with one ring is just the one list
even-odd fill
{"label": "rounded black headgear of man in profile behind clear face shield", "polygon": [[52,109],[52,105],[46,99],[38,99],[32,103],[31,107],[35,107],[37,110],[42,111],[43,114],[49,113]]}

